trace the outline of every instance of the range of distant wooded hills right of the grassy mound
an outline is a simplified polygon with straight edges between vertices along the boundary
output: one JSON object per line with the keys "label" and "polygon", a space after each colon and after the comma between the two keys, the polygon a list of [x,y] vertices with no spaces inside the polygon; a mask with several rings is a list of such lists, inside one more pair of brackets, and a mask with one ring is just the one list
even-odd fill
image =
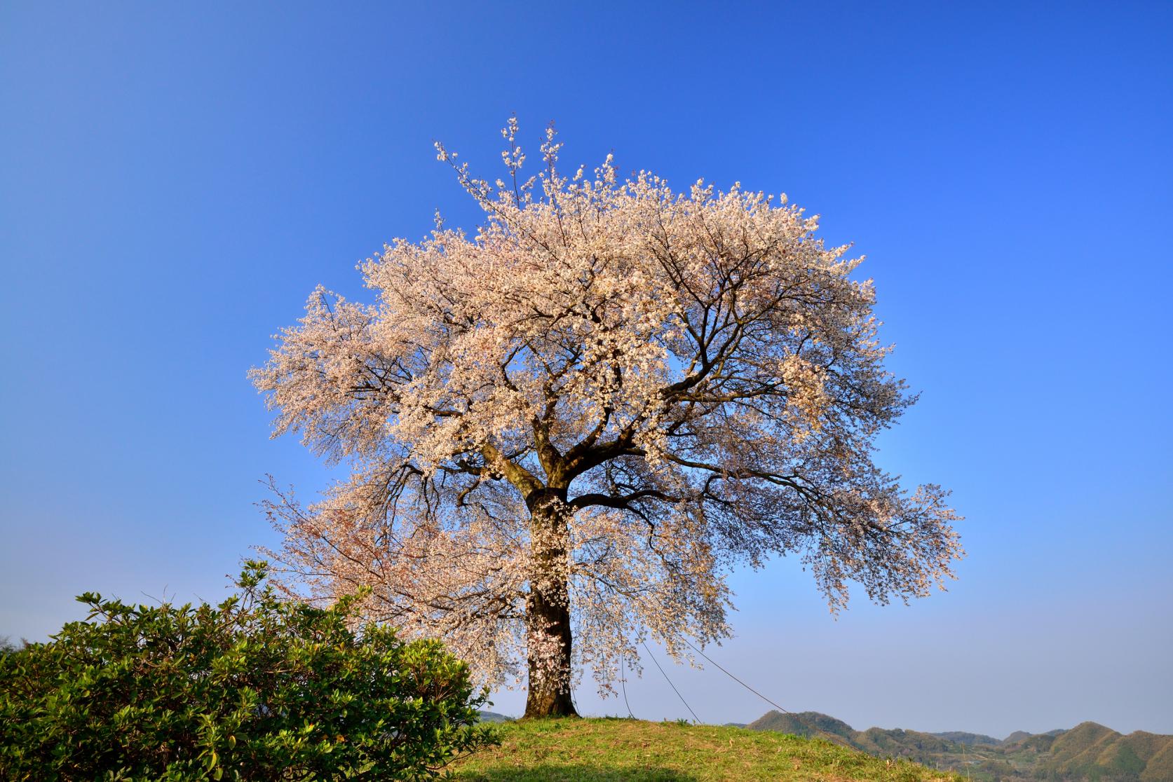
{"label": "range of distant wooded hills right of the grassy mound", "polygon": [[1016,730],[1003,740],[961,730],[855,730],[819,712],[767,712],[747,727],[848,743],[879,757],[907,757],[975,782],[1173,782],[1173,736],[1144,730],[1121,735],[1096,722],[1038,734]]}

